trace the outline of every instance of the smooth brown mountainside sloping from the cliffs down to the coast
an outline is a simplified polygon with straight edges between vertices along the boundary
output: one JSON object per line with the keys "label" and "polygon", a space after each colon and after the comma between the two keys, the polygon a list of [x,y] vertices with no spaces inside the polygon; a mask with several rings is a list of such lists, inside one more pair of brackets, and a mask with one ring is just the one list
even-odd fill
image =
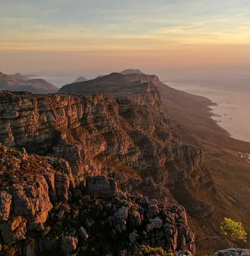
{"label": "smooth brown mountainside sloping from the cliffs down to the coast", "polygon": [[[233,140],[228,132],[221,129],[211,119],[212,113],[209,106],[213,103],[209,99],[170,88],[162,83],[157,76],[141,74],[120,76],[119,74],[111,74],[102,77],[102,81],[90,81],[92,92],[95,91],[94,88],[97,88],[98,92],[105,92],[109,90],[107,88],[111,84],[111,88],[114,90],[109,90],[109,93],[114,97],[117,97],[116,93],[119,92],[115,89],[116,86],[114,84],[123,84],[123,87],[127,87],[130,91],[133,85],[136,87],[138,86],[137,84],[143,83],[152,83],[152,86],[157,88],[162,101],[162,111],[166,110],[168,112],[169,120],[172,123],[173,118],[176,120],[174,130],[182,135],[182,139],[186,143],[191,143],[203,149],[206,166],[209,170],[212,170],[212,180],[216,182],[214,189],[208,186],[208,189],[200,189],[199,192],[196,190],[192,191],[192,193],[199,198],[205,193],[203,194],[203,201],[209,201],[217,214],[210,215],[209,213],[204,221],[199,221],[199,225],[196,225],[196,231],[199,232],[200,236],[216,232],[221,220],[223,220],[224,216],[228,216],[228,209],[231,209],[230,217],[235,220],[241,220],[249,232],[249,205],[246,204],[249,198],[249,193],[246,193],[249,187],[249,166],[244,165],[241,159],[238,159],[239,151],[249,152],[249,143]],[[64,92],[74,92],[67,85],[62,90]],[[132,88],[131,90],[135,89]],[[77,84],[76,91],[79,93],[91,92],[88,83]],[[125,92],[126,90],[124,89],[119,93],[121,95]],[[237,184],[241,184],[241,186]],[[176,193],[176,191],[178,191],[177,186],[175,186],[172,193]],[[241,192],[238,193],[238,191]],[[177,193],[175,198],[178,198],[178,195],[182,197],[184,194]],[[179,202],[185,205],[182,200]],[[188,212],[189,209],[194,209],[192,206],[185,205],[185,207]],[[199,208],[201,214],[211,212],[209,207],[204,207],[203,204],[201,207],[195,208]],[[222,246],[218,245],[217,248],[222,248]],[[238,246],[242,246],[242,244]]]}

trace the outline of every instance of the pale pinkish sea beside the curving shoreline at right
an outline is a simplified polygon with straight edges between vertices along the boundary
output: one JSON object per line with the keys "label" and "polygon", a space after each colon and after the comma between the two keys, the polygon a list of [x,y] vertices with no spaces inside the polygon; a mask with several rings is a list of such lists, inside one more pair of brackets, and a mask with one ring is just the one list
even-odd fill
{"label": "pale pinkish sea beside the curving shoreline at right", "polygon": [[231,137],[250,142],[250,79],[244,86],[209,86],[189,83],[166,83],[168,86],[207,97],[217,106],[210,106],[217,124]]}

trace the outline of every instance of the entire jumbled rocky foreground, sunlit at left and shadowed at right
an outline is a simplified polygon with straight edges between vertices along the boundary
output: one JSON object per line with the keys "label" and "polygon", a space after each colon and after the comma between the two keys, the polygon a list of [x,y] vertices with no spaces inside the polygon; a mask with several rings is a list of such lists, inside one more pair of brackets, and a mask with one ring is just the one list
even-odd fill
{"label": "entire jumbled rocky foreground, sunlit at left and shadowed at right", "polygon": [[139,244],[178,250],[194,239],[180,205],[122,192],[105,176],[75,187],[62,159],[4,146],[0,157],[3,255],[131,255]]}

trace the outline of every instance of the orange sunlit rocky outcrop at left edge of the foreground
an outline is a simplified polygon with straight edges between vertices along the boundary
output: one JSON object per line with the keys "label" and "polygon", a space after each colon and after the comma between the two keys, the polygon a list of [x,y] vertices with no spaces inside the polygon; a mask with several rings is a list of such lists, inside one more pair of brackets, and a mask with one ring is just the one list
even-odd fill
{"label": "orange sunlit rocky outcrop at left edge of the foreground", "polygon": [[52,203],[68,202],[74,179],[63,159],[29,156],[4,146],[0,159],[0,237],[12,244],[26,239],[28,231],[43,230]]}

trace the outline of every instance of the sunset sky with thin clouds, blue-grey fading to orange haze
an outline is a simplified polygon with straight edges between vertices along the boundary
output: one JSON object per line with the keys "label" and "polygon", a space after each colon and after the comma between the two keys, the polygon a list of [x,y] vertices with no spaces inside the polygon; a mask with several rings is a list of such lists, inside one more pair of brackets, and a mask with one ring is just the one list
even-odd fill
{"label": "sunset sky with thin clouds, blue-grey fading to orange haze", "polygon": [[249,72],[250,0],[0,0],[1,72],[125,68]]}

